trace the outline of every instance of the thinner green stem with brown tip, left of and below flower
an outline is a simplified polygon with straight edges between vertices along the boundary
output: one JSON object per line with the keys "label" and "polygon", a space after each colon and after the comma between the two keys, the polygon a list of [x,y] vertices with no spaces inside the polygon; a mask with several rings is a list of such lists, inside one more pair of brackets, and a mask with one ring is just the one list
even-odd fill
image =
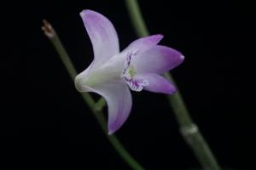
{"label": "thinner green stem with brown tip, left of and below flower", "polygon": [[[54,45],[57,53],[61,58],[61,61],[67,69],[69,76],[73,80],[77,75],[77,71],[75,70],[73,63],[70,60],[67,51],[63,47],[61,40],[56,34],[54,28],[46,20],[43,20],[43,22],[44,26],[42,26],[42,30],[44,31],[45,36],[48,37],[49,41],[52,42],[52,44]],[[108,135],[108,130],[106,126],[107,123],[102,113],[102,108],[105,105],[105,100],[101,98],[97,102],[95,102],[90,94],[81,93],[81,95],[84,99],[84,102],[89,106],[90,111],[94,113],[93,115],[96,117],[96,120],[102,127],[102,130],[104,131],[110,144],[112,144],[113,148],[119,153],[119,156],[121,156],[131,168],[135,170],[144,170],[144,168],[130,155],[130,153],[125,150],[124,146],[120,143],[119,139],[115,135]]]}

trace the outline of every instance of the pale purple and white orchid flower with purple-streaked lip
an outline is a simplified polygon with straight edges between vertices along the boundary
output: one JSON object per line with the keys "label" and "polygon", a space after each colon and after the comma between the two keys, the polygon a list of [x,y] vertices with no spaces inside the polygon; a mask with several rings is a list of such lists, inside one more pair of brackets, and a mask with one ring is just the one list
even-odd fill
{"label": "pale purple and white orchid flower with purple-streaked lip", "polygon": [[183,62],[177,50],[157,45],[163,38],[154,35],[139,38],[119,51],[118,35],[112,23],[92,10],[80,13],[90,41],[94,60],[75,78],[79,92],[102,95],[108,105],[108,134],[114,133],[131,112],[131,92],[143,89],[173,94],[176,88],[160,76]]}

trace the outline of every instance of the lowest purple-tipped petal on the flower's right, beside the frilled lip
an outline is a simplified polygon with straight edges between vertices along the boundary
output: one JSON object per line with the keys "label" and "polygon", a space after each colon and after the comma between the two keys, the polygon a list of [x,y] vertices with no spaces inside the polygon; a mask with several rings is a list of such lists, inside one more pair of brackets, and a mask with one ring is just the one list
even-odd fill
{"label": "lowest purple-tipped petal on the flower's right, beside the frilled lip", "polygon": [[148,85],[143,87],[143,89],[148,90],[149,92],[163,94],[173,94],[176,92],[176,88],[172,85],[172,83],[158,74],[140,74],[137,75],[137,78],[148,82]]}

